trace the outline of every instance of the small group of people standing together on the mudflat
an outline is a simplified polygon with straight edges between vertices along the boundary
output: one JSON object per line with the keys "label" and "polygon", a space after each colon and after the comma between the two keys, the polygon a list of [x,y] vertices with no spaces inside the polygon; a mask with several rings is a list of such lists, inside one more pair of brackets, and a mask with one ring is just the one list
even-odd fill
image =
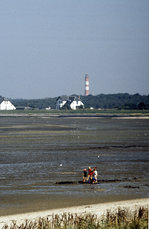
{"label": "small group of people standing together on the mudflat", "polygon": [[93,169],[91,167],[88,167],[88,171],[87,169],[83,170],[83,182],[88,182],[90,184],[94,184],[98,182],[97,179],[98,173],[97,173],[97,169],[96,167],[94,167]]}

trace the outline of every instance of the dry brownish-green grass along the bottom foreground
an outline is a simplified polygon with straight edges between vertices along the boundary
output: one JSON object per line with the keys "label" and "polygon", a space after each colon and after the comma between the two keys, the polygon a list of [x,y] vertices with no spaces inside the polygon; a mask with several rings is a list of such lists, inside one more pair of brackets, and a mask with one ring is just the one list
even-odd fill
{"label": "dry brownish-green grass along the bottom foreground", "polygon": [[134,212],[127,209],[118,209],[115,213],[107,212],[100,219],[91,214],[62,214],[52,218],[39,218],[37,221],[26,220],[17,226],[15,222],[3,229],[146,229],[148,228],[148,209],[140,207]]}

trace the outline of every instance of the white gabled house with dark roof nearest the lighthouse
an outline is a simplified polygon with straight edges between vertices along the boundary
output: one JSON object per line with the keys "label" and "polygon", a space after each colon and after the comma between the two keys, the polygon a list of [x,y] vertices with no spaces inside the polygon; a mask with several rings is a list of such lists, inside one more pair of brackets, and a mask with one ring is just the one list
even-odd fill
{"label": "white gabled house with dark roof nearest the lighthouse", "polygon": [[84,108],[84,104],[78,96],[58,97],[56,102],[56,109],[72,109],[77,110]]}

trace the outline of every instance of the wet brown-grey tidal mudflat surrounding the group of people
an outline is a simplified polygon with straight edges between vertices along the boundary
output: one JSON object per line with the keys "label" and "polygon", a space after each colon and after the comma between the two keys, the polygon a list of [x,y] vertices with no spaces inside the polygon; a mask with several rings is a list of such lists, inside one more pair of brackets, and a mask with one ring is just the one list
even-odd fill
{"label": "wet brown-grey tidal mudflat surrounding the group of people", "polygon": [[0,117],[0,215],[148,198],[148,177],[149,119]]}

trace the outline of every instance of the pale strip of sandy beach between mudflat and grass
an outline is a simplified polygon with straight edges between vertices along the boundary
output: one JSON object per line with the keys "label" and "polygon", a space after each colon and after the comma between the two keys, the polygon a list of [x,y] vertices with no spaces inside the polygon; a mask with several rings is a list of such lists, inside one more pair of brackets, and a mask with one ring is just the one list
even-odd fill
{"label": "pale strip of sandy beach between mudflat and grass", "polygon": [[51,218],[54,214],[63,214],[63,213],[72,213],[72,214],[95,214],[98,217],[101,217],[106,214],[107,211],[114,212],[118,208],[125,208],[131,211],[138,209],[139,207],[149,207],[149,198],[144,199],[135,199],[135,200],[126,200],[126,201],[116,201],[102,204],[92,204],[92,205],[82,205],[69,208],[60,208],[47,211],[38,211],[25,214],[9,215],[0,217],[0,228],[4,225],[10,226],[15,221],[17,225],[22,224],[25,220],[34,221],[41,218]]}

